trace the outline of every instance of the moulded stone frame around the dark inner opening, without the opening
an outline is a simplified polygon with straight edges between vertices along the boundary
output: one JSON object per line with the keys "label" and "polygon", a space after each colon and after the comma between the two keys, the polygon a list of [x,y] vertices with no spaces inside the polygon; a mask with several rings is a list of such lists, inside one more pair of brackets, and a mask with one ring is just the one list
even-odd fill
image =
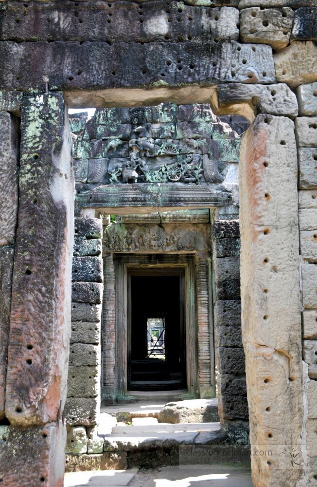
{"label": "moulded stone frame around the dark inner opening, without the opening", "polygon": [[199,393],[198,367],[198,313],[196,296],[195,254],[151,254],[149,264],[146,254],[113,254],[115,276],[115,377],[116,397],[127,392],[127,331],[128,331],[128,269],[182,268],[185,273],[185,330],[186,375],[189,393]]}

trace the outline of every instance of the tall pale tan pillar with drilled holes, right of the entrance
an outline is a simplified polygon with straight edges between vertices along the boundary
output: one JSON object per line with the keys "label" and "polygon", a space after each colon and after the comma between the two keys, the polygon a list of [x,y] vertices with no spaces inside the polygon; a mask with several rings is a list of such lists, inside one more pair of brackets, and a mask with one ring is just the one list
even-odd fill
{"label": "tall pale tan pillar with drilled holes, right of the entrance", "polygon": [[239,192],[252,478],[257,487],[297,485],[303,404],[297,154],[290,119],[259,115],[247,130]]}

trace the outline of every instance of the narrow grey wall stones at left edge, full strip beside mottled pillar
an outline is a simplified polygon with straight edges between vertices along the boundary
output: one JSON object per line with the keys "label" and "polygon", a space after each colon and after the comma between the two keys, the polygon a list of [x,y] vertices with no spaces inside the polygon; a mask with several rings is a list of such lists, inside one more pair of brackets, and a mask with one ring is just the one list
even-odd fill
{"label": "narrow grey wall stones at left edge, full strip beside mottled pillar", "polygon": [[0,112],[0,419],[4,416],[11,285],[18,217],[18,118]]}

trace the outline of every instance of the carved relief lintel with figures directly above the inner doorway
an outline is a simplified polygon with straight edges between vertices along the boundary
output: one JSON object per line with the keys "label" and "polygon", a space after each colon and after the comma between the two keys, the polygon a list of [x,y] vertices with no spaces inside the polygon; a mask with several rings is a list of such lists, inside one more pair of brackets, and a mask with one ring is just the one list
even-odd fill
{"label": "carved relief lintel with figures directly above the inner doorway", "polygon": [[[198,225],[195,225],[198,226]],[[106,252],[193,251],[210,247],[206,231],[173,225],[109,225],[104,232]]]}

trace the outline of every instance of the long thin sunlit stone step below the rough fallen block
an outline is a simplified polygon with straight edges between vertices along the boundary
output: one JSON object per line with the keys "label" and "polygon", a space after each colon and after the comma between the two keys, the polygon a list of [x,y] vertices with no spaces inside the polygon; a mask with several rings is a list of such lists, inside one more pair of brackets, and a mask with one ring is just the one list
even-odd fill
{"label": "long thin sunlit stone step below the rough fallen block", "polygon": [[217,431],[220,430],[220,423],[157,423],[157,424],[143,424],[136,426],[114,426],[111,431],[111,436],[116,434],[121,435],[148,435],[152,436],[156,433],[178,433],[178,432],[199,432],[199,431]]}

